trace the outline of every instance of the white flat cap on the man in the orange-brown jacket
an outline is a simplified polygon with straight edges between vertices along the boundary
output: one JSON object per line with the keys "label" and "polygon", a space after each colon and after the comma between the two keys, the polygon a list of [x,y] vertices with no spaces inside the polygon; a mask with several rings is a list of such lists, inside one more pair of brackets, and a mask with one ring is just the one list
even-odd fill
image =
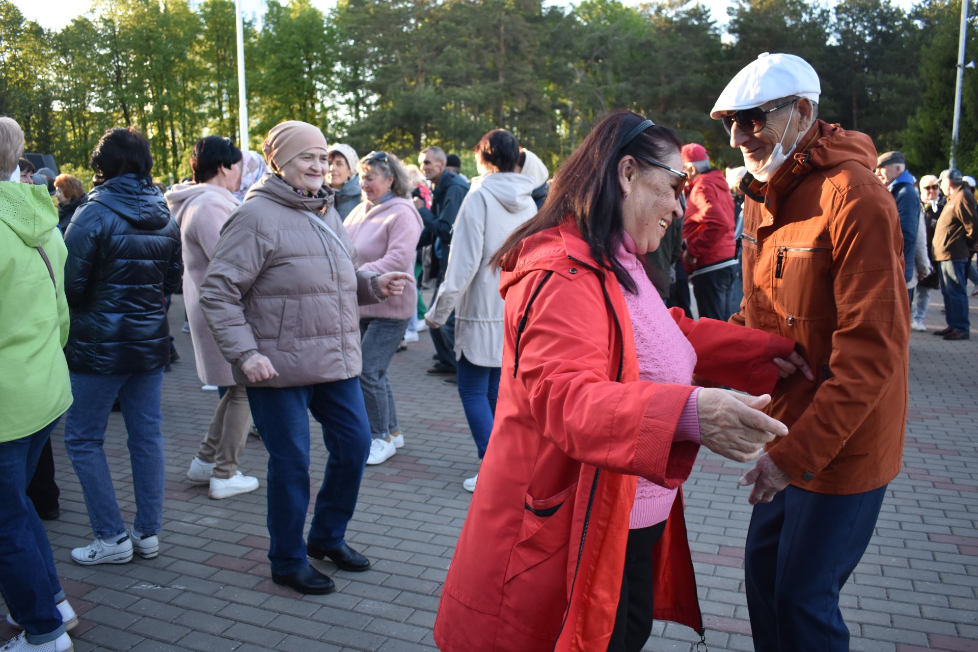
{"label": "white flat cap on the man in the orange-brown jacket", "polygon": [[794,55],[765,52],[733,76],[717,98],[710,117],[718,120],[722,112],[753,109],[792,95],[817,103],[821,94],[819,74],[807,61]]}

